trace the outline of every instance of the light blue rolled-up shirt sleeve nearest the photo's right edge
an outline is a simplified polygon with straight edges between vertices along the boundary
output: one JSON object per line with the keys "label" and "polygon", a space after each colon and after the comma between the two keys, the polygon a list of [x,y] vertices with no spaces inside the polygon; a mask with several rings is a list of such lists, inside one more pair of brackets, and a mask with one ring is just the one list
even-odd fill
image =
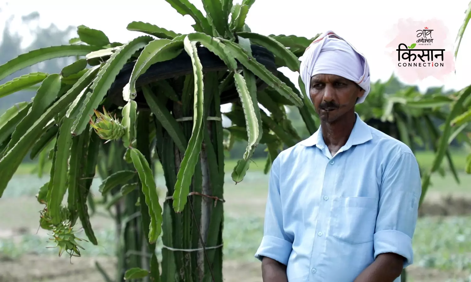
{"label": "light blue rolled-up shirt sleeve nearest the photo's right edge", "polygon": [[380,188],[378,217],[374,234],[374,258],[396,253],[412,264],[412,237],[420,195],[421,179],[417,160],[411,152],[401,152],[386,166]]}

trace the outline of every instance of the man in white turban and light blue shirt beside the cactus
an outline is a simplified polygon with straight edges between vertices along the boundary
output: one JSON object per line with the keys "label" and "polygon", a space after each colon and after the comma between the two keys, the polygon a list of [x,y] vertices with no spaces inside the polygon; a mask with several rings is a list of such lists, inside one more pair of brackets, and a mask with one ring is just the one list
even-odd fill
{"label": "man in white turban and light blue shirt beside the cactus", "polygon": [[321,125],[272,164],[255,254],[263,281],[400,282],[421,195],[414,154],[356,113],[370,72],[347,41],[320,36],[300,75]]}

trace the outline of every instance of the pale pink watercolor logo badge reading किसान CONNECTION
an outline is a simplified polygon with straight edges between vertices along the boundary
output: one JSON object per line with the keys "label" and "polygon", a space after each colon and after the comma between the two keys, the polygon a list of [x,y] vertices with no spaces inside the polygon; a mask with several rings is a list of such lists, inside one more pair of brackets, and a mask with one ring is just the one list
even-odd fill
{"label": "pale pink watercolor logo badge reading \u0915\u093f\u0938\u093e\u0928 CONNECTION", "polygon": [[414,84],[425,78],[444,80],[455,71],[454,40],[439,20],[400,20],[386,46],[397,76]]}

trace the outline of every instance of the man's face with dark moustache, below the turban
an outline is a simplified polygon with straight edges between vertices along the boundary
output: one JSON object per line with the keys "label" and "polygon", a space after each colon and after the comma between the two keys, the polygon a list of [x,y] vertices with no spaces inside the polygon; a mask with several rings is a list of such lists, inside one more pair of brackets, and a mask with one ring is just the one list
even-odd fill
{"label": "man's face with dark moustache, below the turban", "polygon": [[355,107],[365,90],[355,82],[333,74],[317,74],[311,78],[309,96],[322,121],[332,123]]}

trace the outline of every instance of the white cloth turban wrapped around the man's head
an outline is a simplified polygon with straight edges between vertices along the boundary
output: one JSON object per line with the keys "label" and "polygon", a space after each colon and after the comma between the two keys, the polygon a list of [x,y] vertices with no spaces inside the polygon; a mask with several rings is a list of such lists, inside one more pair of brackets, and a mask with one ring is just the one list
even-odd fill
{"label": "white cloth turban wrapped around the man's head", "polygon": [[314,40],[300,59],[300,75],[308,96],[311,78],[319,73],[338,75],[357,83],[365,90],[357,104],[365,101],[370,93],[370,67],[365,56],[333,31]]}

